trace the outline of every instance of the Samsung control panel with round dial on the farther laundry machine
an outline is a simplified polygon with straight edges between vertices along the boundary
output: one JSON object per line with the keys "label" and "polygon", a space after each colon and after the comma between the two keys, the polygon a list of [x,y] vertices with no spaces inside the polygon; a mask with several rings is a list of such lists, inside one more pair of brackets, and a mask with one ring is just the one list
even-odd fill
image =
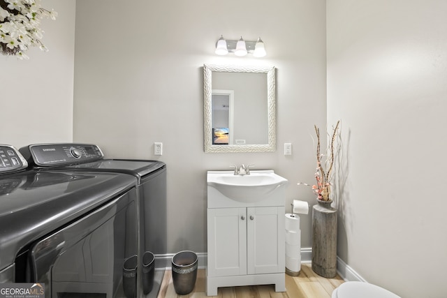
{"label": "Samsung control panel with round dial on the farther laundry machine", "polygon": [[29,163],[41,167],[88,163],[104,157],[101,149],[94,144],[32,144],[20,148],[20,152]]}

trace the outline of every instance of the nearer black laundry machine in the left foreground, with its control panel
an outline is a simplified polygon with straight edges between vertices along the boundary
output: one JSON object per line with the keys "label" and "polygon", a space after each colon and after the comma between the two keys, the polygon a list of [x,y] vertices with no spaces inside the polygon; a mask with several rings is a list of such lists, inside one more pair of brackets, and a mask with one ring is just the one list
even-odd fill
{"label": "nearer black laundry machine in the left foreground, with its control panel", "polygon": [[46,298],[135,297],[135,178],[30,170],[10,145],[0,158],[0,283],[40,283]]}

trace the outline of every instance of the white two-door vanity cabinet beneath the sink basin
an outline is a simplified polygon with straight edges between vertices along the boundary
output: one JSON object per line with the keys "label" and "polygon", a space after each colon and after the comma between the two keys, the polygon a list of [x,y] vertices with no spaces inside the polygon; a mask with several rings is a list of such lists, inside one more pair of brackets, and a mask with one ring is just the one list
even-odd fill
{"label": "white two-door vanity cabinet beneath the sink basin", "polygon": [[208,296],[217,288],[275,285],[285,289],[285,187],[256,202],[232,200],[208,186]]}

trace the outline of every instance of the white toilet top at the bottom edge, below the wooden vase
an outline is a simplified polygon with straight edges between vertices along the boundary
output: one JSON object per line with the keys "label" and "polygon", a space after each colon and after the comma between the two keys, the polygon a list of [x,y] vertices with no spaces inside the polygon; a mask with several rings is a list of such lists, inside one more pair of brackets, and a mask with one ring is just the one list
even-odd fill
{"label": "white toilet top at the bottom edge, below the wooden vase", "polygon": [[392,292],[371,283],[347,281],[332,292],[332,298],[400,298]]}

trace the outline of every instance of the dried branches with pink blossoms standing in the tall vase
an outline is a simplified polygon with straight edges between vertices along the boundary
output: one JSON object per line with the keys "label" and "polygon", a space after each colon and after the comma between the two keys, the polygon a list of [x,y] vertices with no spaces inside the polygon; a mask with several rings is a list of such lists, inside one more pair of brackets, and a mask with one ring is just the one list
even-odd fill
{"label": "dried branches with pink blossoms standing in the tall vase", "polygon": [[[321,154],[320,150],[320,129],[316,126],[316,172],[315,179],[316,184],[312,185],[312,191],[317,195],[318,200],[322,201],[330,201],[330,180],[332,179],[332,167],[334,165],[334,156],[335,156],[335,137],[337,135],[337,130],[339,128],[340,121],[337,121],[335,125],[334,131],[332,131],[332,137],[330,140],[330,146],[328,148],[328,155],[326,155],[326,160],[323,165],[324,154]],[[327,171],[325,170],[328,169]],[[310,186],[309,184],[305,184],[302,182],[298,182],[298,185]]]}

